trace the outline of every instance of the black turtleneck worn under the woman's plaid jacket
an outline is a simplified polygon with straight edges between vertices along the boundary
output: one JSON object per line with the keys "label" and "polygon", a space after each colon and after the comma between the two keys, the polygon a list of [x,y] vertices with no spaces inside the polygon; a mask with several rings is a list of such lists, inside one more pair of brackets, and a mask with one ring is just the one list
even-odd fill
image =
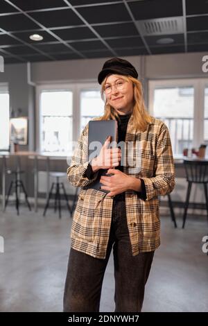
{"label": "black turtleneck worn under the woman's plaid jacket", "polygon": [[[118,143],[120,141],[125,141],[126,130],[127,130],[128,121],[130,117],[131,117],[131,113],[128,113],[128,114],[119,114],[120,119],[116,118],[118,122]],[[115,169],[118,169],[123,172],[123,165],[119,163],[119,166],[116,166]],[[87,166],[87,170],[85,171],[85,177],[91,179],[93,174],[94,172],[92,171],[92,165],[89,163]],[[140,180],[141,180],[141,191],[138,191],[138,196],[139,198],[146,200],[146,189],[145,189],[144,180],[143,179]],[[114,196],[114,199],[125,200],[124,193],[117,194],[116,196]]]}

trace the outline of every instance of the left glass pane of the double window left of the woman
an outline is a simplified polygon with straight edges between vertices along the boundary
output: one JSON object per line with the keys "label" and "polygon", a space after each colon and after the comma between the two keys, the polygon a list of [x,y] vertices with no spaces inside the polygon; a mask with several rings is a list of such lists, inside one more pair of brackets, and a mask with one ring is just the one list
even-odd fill
{"label": "left glass pane of the double window left of the woman", "polygon": [[41,94],[42,152],[69,155],[72,151],[72,98],[69,91],[47,91]]}

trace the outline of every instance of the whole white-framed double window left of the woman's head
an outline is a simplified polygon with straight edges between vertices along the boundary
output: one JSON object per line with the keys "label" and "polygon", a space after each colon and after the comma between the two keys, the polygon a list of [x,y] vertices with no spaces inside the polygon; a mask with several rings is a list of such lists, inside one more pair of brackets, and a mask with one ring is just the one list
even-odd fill
{"label": "whole white-framed double window left of the woman's head", "polygon": [[71,155],[87,122],[104,113],[94,83],[37,86],[37,150]]}

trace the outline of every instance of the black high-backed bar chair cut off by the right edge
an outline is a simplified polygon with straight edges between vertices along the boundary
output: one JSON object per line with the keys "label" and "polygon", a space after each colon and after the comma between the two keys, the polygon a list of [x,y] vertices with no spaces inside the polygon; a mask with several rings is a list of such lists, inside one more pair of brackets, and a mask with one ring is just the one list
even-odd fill
{"label": "black high-backed bar chair cut off by the right edge", "polygon": [[205,200],[208,218],[208,197],[207,197],[207,183],[208,183],[208,160],[184,160],[184,167],[187,176],[188,189],[187,198],[184,207],[184,216],[182,228],[184,228],[187,219],[187,209],[189,207],[189,198],[191,194],[191,186],[193,183],[198,183],[204,186]]}

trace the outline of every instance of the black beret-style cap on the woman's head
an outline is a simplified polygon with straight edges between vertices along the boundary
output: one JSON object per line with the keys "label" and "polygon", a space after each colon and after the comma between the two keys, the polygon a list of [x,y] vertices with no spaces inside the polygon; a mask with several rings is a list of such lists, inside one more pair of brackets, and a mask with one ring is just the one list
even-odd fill
{"label": "black beret-style cap on the woman's head", "polygon": [[138,77],[137,70],[132,64],[121,58],[112,58],[105,61],[103,69],[98,74],[98,83],[101,84],[103,79],[109,74],[132,76],[134,78]]}

